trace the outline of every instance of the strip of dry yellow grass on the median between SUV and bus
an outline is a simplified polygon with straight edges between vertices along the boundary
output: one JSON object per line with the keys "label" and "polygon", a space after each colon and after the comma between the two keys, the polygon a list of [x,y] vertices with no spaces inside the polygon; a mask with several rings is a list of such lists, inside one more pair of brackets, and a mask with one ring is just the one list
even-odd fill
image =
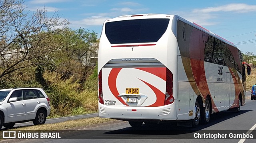
{"label": "strip of dry yellow grass on the median between SUV and bus", "polygon": [[[73,127],[83,127],[86,125],[94,125],[98,123],[104,123],[108,121],[115,121],[114,119],[106,119],[106,118],[86,118],[86,119],[76,119],[70,121],[64,121],[60,123],[49,123],[44,125],[32,125],[27,127],[20,127],[18,130],[29,130],[29,131],[55,131],[55,130],[64,130],[70,129]],[[10,129],[16,131],[16,129]]]}

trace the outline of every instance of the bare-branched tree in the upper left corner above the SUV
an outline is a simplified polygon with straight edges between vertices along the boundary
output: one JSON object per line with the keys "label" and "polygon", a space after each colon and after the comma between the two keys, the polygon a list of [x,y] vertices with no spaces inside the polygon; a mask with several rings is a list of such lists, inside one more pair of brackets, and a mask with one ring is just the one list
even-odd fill
{"label": "bare-branched tree in the upper left corner above the SUV", "polygon": [[66,25],[55,12],[48,16],[45,9],[24,12],[22,0],[0,0],[0,78],[26,67],[26,62],[42,57],[42,43],[58,33],[56,27]]}

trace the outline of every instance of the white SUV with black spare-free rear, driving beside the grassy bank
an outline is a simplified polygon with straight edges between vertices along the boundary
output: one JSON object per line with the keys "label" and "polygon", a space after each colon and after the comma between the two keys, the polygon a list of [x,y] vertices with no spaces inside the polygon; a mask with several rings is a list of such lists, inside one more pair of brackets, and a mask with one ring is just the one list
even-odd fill
{"label": "white SUV with black spare-free rear, driving beside the grassy bank", "polygon": [[0,129],[27,121],[44,124],[49,114],[50,100],[41,88],[0,90]]}

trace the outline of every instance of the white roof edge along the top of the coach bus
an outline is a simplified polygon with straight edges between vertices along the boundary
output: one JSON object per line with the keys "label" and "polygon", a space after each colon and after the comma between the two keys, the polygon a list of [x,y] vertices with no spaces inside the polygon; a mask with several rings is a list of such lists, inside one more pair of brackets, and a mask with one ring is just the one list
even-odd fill
{"label": "white roof edge along the top of the coach bus", "polygon": [[[189,25],[191,25],[191,26],[193,26],[193,27],[195,27],[195,28],[197,28],[197,29],[200,29],[201,31],[204,31],[205,33],[207,33],[207,34],[209,34],[209,35],[211,35],[211,36],[213,36],[213,37],[215,37],[215,38],[217,38],[217,39],[220,39],[220,40],[222,40],[222,41],[224,41],[224,42],[226,42],[226,43],[228,43],[229,45],[231,45],[231,46],[233,46],[233,47],[236,47],[236,45],[234,45],[234,43],[232,43],[232,42],[230,42],[230,41],[228,41],[227,39],[224,39],[223,37],[220,37],[219,35],[217,35],[217,34],[215,34],[215,33],[213,33],[212,31],[210,31],[210,30],[208,30],[208,29],[206,29],[206,28],[204,28],[204,27],[202,27],[202,26],[200,26],[200,25],[198,25],[198,24],[196,24],[196,23],[194,23],[194,22],[190,22],[189,20],[186,20],[186,19],[184,19],[184,18],[182,18],[182,17],[180,17],[180,16],[177,16],[177,15],[168,15],[168,14],[136,14],[136,15],[125,15],[125,16],[119,16],[119,17],[116,17],[116,18],[113,18],[113,19],[111,19],[111,20],[106,20],[106,22],[108,22],[108,21],[112,21],[112,20],[117,20],[117,19],[119,19],[119,18],[132,18],[132,17],[136,17],[136,18],[139,18],[140,16],[146,16],[146,17],[154,17],[154,18],[156,18],[156,17],[158,17],[158,18],[162,18],[162,17],[177,17],[178,18],[178,20],[181,20],[182,22],[184,22],[184,23],[186,23],[186,24],[189,24]],[[145,18],[145,17],[144,17]],[[237,47],[236,47],[237,48]]]}

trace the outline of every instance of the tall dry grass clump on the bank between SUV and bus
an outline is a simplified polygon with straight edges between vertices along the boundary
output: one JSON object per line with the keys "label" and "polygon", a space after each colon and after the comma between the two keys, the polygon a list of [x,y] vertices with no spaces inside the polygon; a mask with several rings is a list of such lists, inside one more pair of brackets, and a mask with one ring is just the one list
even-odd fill
{"label": "tall dry grass clump on the bank between SUV and bus", "polygon": [[98,90],[84,89],[73,77],[67,80],[56,77],[56,73],[44,74],[54,89],[48,91],[52,104],[50,118],[98,112]]}

